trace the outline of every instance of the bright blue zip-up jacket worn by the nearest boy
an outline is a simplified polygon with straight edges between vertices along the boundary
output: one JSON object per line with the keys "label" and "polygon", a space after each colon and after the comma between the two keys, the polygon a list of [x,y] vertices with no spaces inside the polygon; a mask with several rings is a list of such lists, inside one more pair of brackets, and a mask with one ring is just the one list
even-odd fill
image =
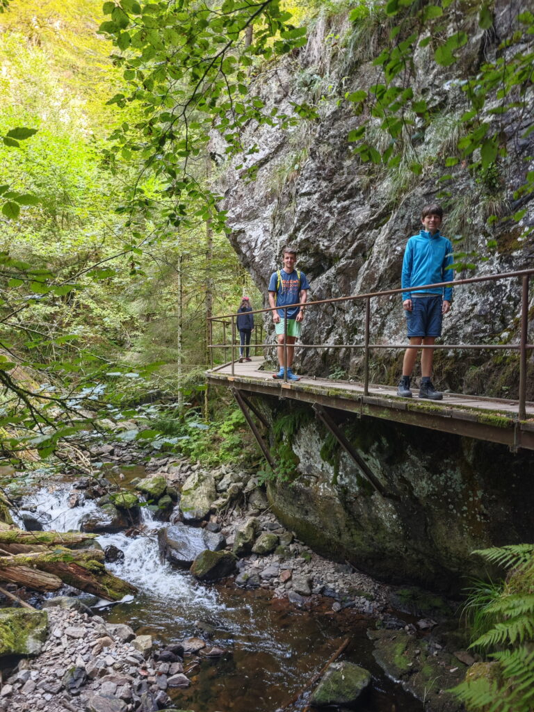
{"label": "bright blue zip-up jacket worn by the nearest boy", "polygon": [[[441,235],[439,230],[434,235],[422,230],[419,235],[414,235],[407,242],[402,261],[402,288],[453,281],[454,270],[447,269],[453,261],[451,241]],[[452,301],[452,287],[414,291],[441,294],[444,300]],[[402,300],[412,298],[412,294],[414,292],[403,292]]]}

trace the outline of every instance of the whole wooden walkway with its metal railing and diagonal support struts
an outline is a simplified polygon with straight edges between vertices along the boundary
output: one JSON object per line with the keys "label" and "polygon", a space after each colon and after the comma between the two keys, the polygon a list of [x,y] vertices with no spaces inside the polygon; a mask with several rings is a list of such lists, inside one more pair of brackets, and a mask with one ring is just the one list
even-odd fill
{"label": "whole wooden walkway with its metal railing and diagonal support struts", "polygon": [[[475,277],[466,280],[458,280],[453,283],[454,287],[473,282],[493,282],[500,280],[517,280],[519,278],[520,295],[520,330],[518,343],[514,344],[440,344],[426,348],[437,349],[461,349],[461,350],[508,350],[518,352],[519,367],[519,399],[498,399],[490,397],[466,396],[444,392],[441,401],[428,401],[414,398],[402,398],[397,396],[397,389],[391,386],[372,384],[369,380],[369,355],[373,349],[405,349],[406,344],[384,344],[370,342],[370,300],[385,295],[402,293],[401,289],[387,290],[384,292],[351,295],[350,297],[340,297],[335,299],[308,302],[306,309],[314,306],[320,307],[323,304],[336,303],[347,300],[364,300],[366,305],[365,335],[362,344],[300,344],[297,349],[305,348],[348,348],[361,349],[364,352],[364,380],[338,381],[332,379],[315,378],[303,376],[298,382],[287,382],[273,379],[272,372],[263,370],[265,361],[263,357],[255,356],[251,362],[239,363],[239,345],[236,342],[236,314],[229,314],[224,317],[214,317],[209,320],[209,346],[211,353],[219,349],[228,356],[231,361],[224,365],[214,367],[213,359],[211,370],[207,372],[210,384],[226,385],[232,389],[239,406],[251,426],[266,459],[272,464],[268,447],[263,442],[255,422],[251,417],[251,412],[256,417],[263,420],[261,413],[253,406],[248,399],[251,394],[264,394],[278,396],[281,398],[294,399],[312,405],[318,417],[325,426],[337,438],[340,445],[349,454],[357,459],[357,453],[351,450],[340,429],[337,428],[332,417],[332,411],[346,411],[357,415],[357,417],[373,417],[387,419],[394,422],[440,430],[446,433],[453,433],[459,436],[466,436],[486,440],[490,442],[507,445],[512,451],[518,449],[534,450],[534,403],[526,400],[527,392],[527,355],[532,354],[534,345],[527,342],[528,337],[528,305],[529,305],[529,278],[534,274],[534,269],[520,272],[503,273],[485,277]],[[422,290],[424,288],[446,286],[449,283],[439,285],[422,285],[411,288],[411,290]],[[285,307],[285,308],[289,308]],[[258,309],[254,314],[270,312],[271,309]],[[222,325],[223,342],[214,342],[214,324]],[[231,340],[226,342],[227,326],[231,326]],[[261,343],[254,345],[254,351],[261,348],[273,349],[272,343]],[[419,346],[417,348],[425,348]],[[417,392],[416,392],[417,393]],[[361,463],[360,463],[361,464]]]}

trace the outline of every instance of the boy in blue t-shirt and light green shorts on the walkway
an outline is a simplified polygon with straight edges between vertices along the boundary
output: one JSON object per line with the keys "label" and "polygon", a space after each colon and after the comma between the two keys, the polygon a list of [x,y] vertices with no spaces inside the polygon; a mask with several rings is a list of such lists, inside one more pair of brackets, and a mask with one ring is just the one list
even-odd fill
{"label": "boy in blue t-shirt and light green shorts on the walkway", "polygon": [[[284,321],[287,311],[288,327],[288,380],[300,381],[291,370],[295,347],[293,344],[300,336],[300,325],[304,318],[304,305],[308,298],[310,285],[303,272],[295,269],[297,252],[291,247],[283,249],[283,269],[273,272],[269,281],[269,306],[273,310],[273,322],[278,336],[278,364],[280,370],[273,374],[273,378],[284,377]],[[288,310],[280,309],[281,306],[295,304]],[[278,308],[277,308],[278,307]]]}

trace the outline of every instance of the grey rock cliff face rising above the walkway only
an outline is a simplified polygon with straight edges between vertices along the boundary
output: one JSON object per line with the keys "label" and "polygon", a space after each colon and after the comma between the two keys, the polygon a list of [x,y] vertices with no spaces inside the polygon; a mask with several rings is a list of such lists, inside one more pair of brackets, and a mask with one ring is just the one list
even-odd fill
{"label": "grey rock cliff face rising above the walkway only", "polygon": [[[444,157],[463,130],[460,116],[466,100],[461,81],[495,56],[498,42],[511,34],[513,11],[523,5],[526,9],[525,2],[512,5],[498,0],[491,31],[478,28],[476,11],[466,5],[466,14],[456,21],[470,39],[461,49],[459,63],[451,67],[437,66],[430,48],[414,53],[412,87],[426,100],[433,120],[419,130],[414,116],[406,160],[395,169],[362,163],[353,154],[347,135],[360,125],[362,116],[355,114],[353,105],[343,101],[338,105],[346,92],[383,81],[372,63],[389,32],[387,23],[385,28],[380,24],[383,19],[371,17],[362,26],[350,26],[346,16],[322,16],[300,56],[258,76],[255,88],[268,105],[290,114],[292,102],[306,101],[315,104],[320,115],[319,120],[303,120],[289,130],[249,125],[244,146],[256,147],[255,152],[246,157],[244,168],[226,169],[219,184],[231,243],[264,294],[271,271],[280,266],[281,248],[288,243],[298,249],[298,264],[310,278],[310,299],[398,288],[404,246],[419,231],[422,206],[436,199],[446,209],[443,234],[455,240],[455,250],[476,253],[464,258],[476,262],[474,275],[532,266],[533,238],[521,235],[525,226],[534,224],[534,199],[513,197],[526,171],[533,169],[534,132],[520,139],[517,135],[518,122],[521,135],[533,125],[532,112],[506,115],[503,141],[508,157],[499,159],[491,171],[444,167]],[[377,146],[381,141],[383,145],[387,137],[378,120],[376,134]],[[424,166],[421,176],[409,171],[409,152],[417,152]],[[246,177],[247,167],[256,171],[256,180]],[[440,181],[449,172],[453,178]],[[448,195],[440,197],[444,186]],[[488,224],[490,214],[511,215],[519,204],[527,208],[519,225],[512,220]],[[495,241],[491,248],[488,241]],[[471,276],[463,271],[456,278]],[[517,342],[519,305],[518,280],[456,288],[454,308],[444,320],[444,340]],[[310,308],[303,342],[362,343],[363,314],[362,302]],[[270,319],[266,326],[272,330]],[[399,296],[371,301],[371,328],[372,342],[405,341]],[[316,375],[335,371],[361,375],[361,350],[305,350],[299,358],[298,367]],[[508,362],[502,354],[495,358],[486,352],[441,353],[436,355],[435,381],[444,389],[483,389],[506,396],[515,389],[516,371],[515,356]],[[371,371],[375,381],[393,383],[398,372],[398,352],[375,352]]]}

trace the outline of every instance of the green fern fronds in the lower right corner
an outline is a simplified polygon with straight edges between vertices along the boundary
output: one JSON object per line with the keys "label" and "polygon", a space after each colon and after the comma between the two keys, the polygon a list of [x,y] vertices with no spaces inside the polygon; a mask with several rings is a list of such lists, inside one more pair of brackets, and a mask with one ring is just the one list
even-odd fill
{"label": "green fern fronds in the lower right corner", "polygon": [[466,604],[471,648],[492,659],[454,691],[469,711],[530,712],[534,705],[534,545],[474,552],[508,570],[498,585],[478,582]]}

